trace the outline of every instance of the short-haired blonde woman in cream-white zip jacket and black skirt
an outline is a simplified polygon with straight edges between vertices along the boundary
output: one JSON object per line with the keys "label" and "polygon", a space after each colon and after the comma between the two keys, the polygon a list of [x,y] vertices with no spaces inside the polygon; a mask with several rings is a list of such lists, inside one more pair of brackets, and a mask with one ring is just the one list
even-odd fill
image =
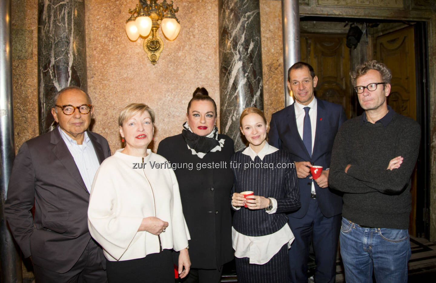
{"label": "short-haired blonde woman in cream-white zip jacket and black skirt", "polygon": [[95,174],[88,226],[106,256],[109,283],[174,283],[171,250],[180,251],[180,277],[189,272],[189,232],[176,176],[167,160],[147,149],[154,112],[132,103],[119,115],[126,146]]}

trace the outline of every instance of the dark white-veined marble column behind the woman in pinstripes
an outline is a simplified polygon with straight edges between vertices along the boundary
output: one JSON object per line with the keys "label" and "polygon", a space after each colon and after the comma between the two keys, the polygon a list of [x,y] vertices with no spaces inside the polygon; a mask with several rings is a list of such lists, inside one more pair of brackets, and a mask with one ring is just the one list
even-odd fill
{"label": "dark white-veined marble column behind the woman in pinstripes", "polygon": [[263,110],[259,0],[218,0],[220,132],[245,147],[239,117],[247,107]]}

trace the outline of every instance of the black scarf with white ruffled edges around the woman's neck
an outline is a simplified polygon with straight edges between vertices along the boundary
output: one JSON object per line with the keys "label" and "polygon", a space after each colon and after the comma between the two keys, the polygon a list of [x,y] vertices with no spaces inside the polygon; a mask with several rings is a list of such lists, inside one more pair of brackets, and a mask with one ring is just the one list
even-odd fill
{"label": "black scarf with white ruffled edges around the woman's neck", "polygon": [[221,151],[224,139],[218,140],[218,128],[215,126],[207,136],[199,136],[192,132],[188,122],[183,124],[182,137],[193,155],[203,158],[208,152]]}

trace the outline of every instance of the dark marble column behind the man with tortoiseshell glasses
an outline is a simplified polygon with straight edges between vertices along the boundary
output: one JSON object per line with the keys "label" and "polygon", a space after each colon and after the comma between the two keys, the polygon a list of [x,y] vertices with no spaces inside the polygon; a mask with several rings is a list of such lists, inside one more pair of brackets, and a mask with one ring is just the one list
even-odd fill
{"label": "dark marble column behind the man with tortoiseshell glasses", "polygon": [[49,130],[56,93],[64,87],[88,89],[85,3],[38,0],[39,133]]}

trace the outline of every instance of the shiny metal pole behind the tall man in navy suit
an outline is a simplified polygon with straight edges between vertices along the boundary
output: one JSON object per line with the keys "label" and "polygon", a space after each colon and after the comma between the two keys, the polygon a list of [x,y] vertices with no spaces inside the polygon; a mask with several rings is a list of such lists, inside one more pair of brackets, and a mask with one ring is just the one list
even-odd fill
{"label": "shiny metal pole behind the tall man in navy suit", "polygon": [[301,60],[300,52],[300,7],[298,0],[282,0],[282,30],[283,30],[283,78],[285,83],[285,107],[294,100],[289,95],[287,85],[288,70]]}

